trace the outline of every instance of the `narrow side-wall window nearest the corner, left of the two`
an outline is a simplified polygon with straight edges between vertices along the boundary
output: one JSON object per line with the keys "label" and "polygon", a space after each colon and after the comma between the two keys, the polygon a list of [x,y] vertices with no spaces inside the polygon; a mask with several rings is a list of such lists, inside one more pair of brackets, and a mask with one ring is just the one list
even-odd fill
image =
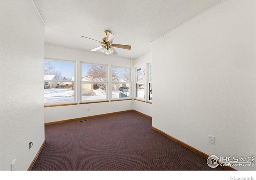
{"label": "narrow side-wall window nearest the corner, left of the two", "polygon": [[136,98],[145,98],[145,68],[136,68]]}

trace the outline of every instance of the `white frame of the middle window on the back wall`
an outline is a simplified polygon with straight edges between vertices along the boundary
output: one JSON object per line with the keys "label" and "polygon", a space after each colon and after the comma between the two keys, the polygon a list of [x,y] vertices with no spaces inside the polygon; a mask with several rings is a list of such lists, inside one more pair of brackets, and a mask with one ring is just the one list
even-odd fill
{"label": "white frame of the middle window on the back wall", "polygon": [[[92,66],[104,66],[106,68],[106,81],[83,81],[83,64],[92,65]],[[96,100],[82,100],[82,84],[83,83],[92,83],[92,84],[103,84],[106,83],[106,99],[96,99]],[[95,102],[108,102],[109,95],[108,95],[108,64],[95,64],[90,62],[83,62],[80,61],[80,104],[87,104],[87,103],[95,103]]]}

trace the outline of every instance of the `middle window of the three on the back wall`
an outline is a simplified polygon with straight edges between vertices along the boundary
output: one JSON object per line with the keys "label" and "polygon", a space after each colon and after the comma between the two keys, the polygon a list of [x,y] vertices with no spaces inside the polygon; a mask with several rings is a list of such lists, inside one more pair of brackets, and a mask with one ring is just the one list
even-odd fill
{"label": "middle window of the three on the back wall", "polygon": [[107,66],[82,63],[81,101],[107,100]]}

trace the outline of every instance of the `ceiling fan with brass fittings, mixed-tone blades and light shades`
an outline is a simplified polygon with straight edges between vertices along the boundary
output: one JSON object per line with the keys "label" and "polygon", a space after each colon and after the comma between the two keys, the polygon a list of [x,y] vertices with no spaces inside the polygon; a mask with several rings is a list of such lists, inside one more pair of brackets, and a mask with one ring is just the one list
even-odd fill
{"label": "ceiling fan with brass fittings, mixed-tone blades and light shades", "polygon": [[100,49],[101,52],[105,52],[105,54],[107,54],[107,55],[110,54],[110,53],[112,53],[113,55],[118,54],[116,52],[116,50],[114,50],[113,47],[128,49],[128,50],[131,49],[132,46],[122,45],[122,44],[112,44],[112,41],[116,36],[114,34],[112,34],[110,31],[106,30],[106,31],[104,31],[104,34],[106,35],[106,38],[102,38],[102,42],[100,42],[98,40],[91,39],[91,38],[87,38],[87,37],[84,37],[84,36],[81,36],[81,38],[94,40],[94,41],[99,42],[100,44],[103,44],[102,46],[99,46],[97,48],[92,49],[91,51],[96,51],[96,50]]}

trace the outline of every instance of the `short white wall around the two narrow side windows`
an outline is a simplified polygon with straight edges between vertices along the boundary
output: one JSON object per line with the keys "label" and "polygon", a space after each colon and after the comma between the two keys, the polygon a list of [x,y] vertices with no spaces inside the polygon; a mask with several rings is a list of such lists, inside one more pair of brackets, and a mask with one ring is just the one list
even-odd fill
{"label": "short white wall around the two narrow side windows", "polygon": [[[145,54],[144,56],[140,56],[140,57],[134,59],[132,64],[133,64],[133,67],[145,66],[146,71],[147,71],[148,70],[147,64],[151,63],[151,62],[152,62],[152,52],[149,52],[149,53]],[[152,68],[153,68],[152,74],[154,76],[154,65],[153,64],[152,64]],[[134,68],[133,68],[133,70],[134,70]],[[133,74],[133,75],[135,76],[135,74]],[[134,77],[134,82],[136,81],[135,78],[136,77]],[[146,82],[145,82],[145,85],[146,85]],[[154,88],[154,82],[152,82],[152,87]],[[153,91],[153,93],[154,93],[154,91]],[[147,97],[146,97],[146,92],[145,92],[145,100],[146,100],[146,98]],[[133,100],[133,109],[152,117],[152,104]]]}

